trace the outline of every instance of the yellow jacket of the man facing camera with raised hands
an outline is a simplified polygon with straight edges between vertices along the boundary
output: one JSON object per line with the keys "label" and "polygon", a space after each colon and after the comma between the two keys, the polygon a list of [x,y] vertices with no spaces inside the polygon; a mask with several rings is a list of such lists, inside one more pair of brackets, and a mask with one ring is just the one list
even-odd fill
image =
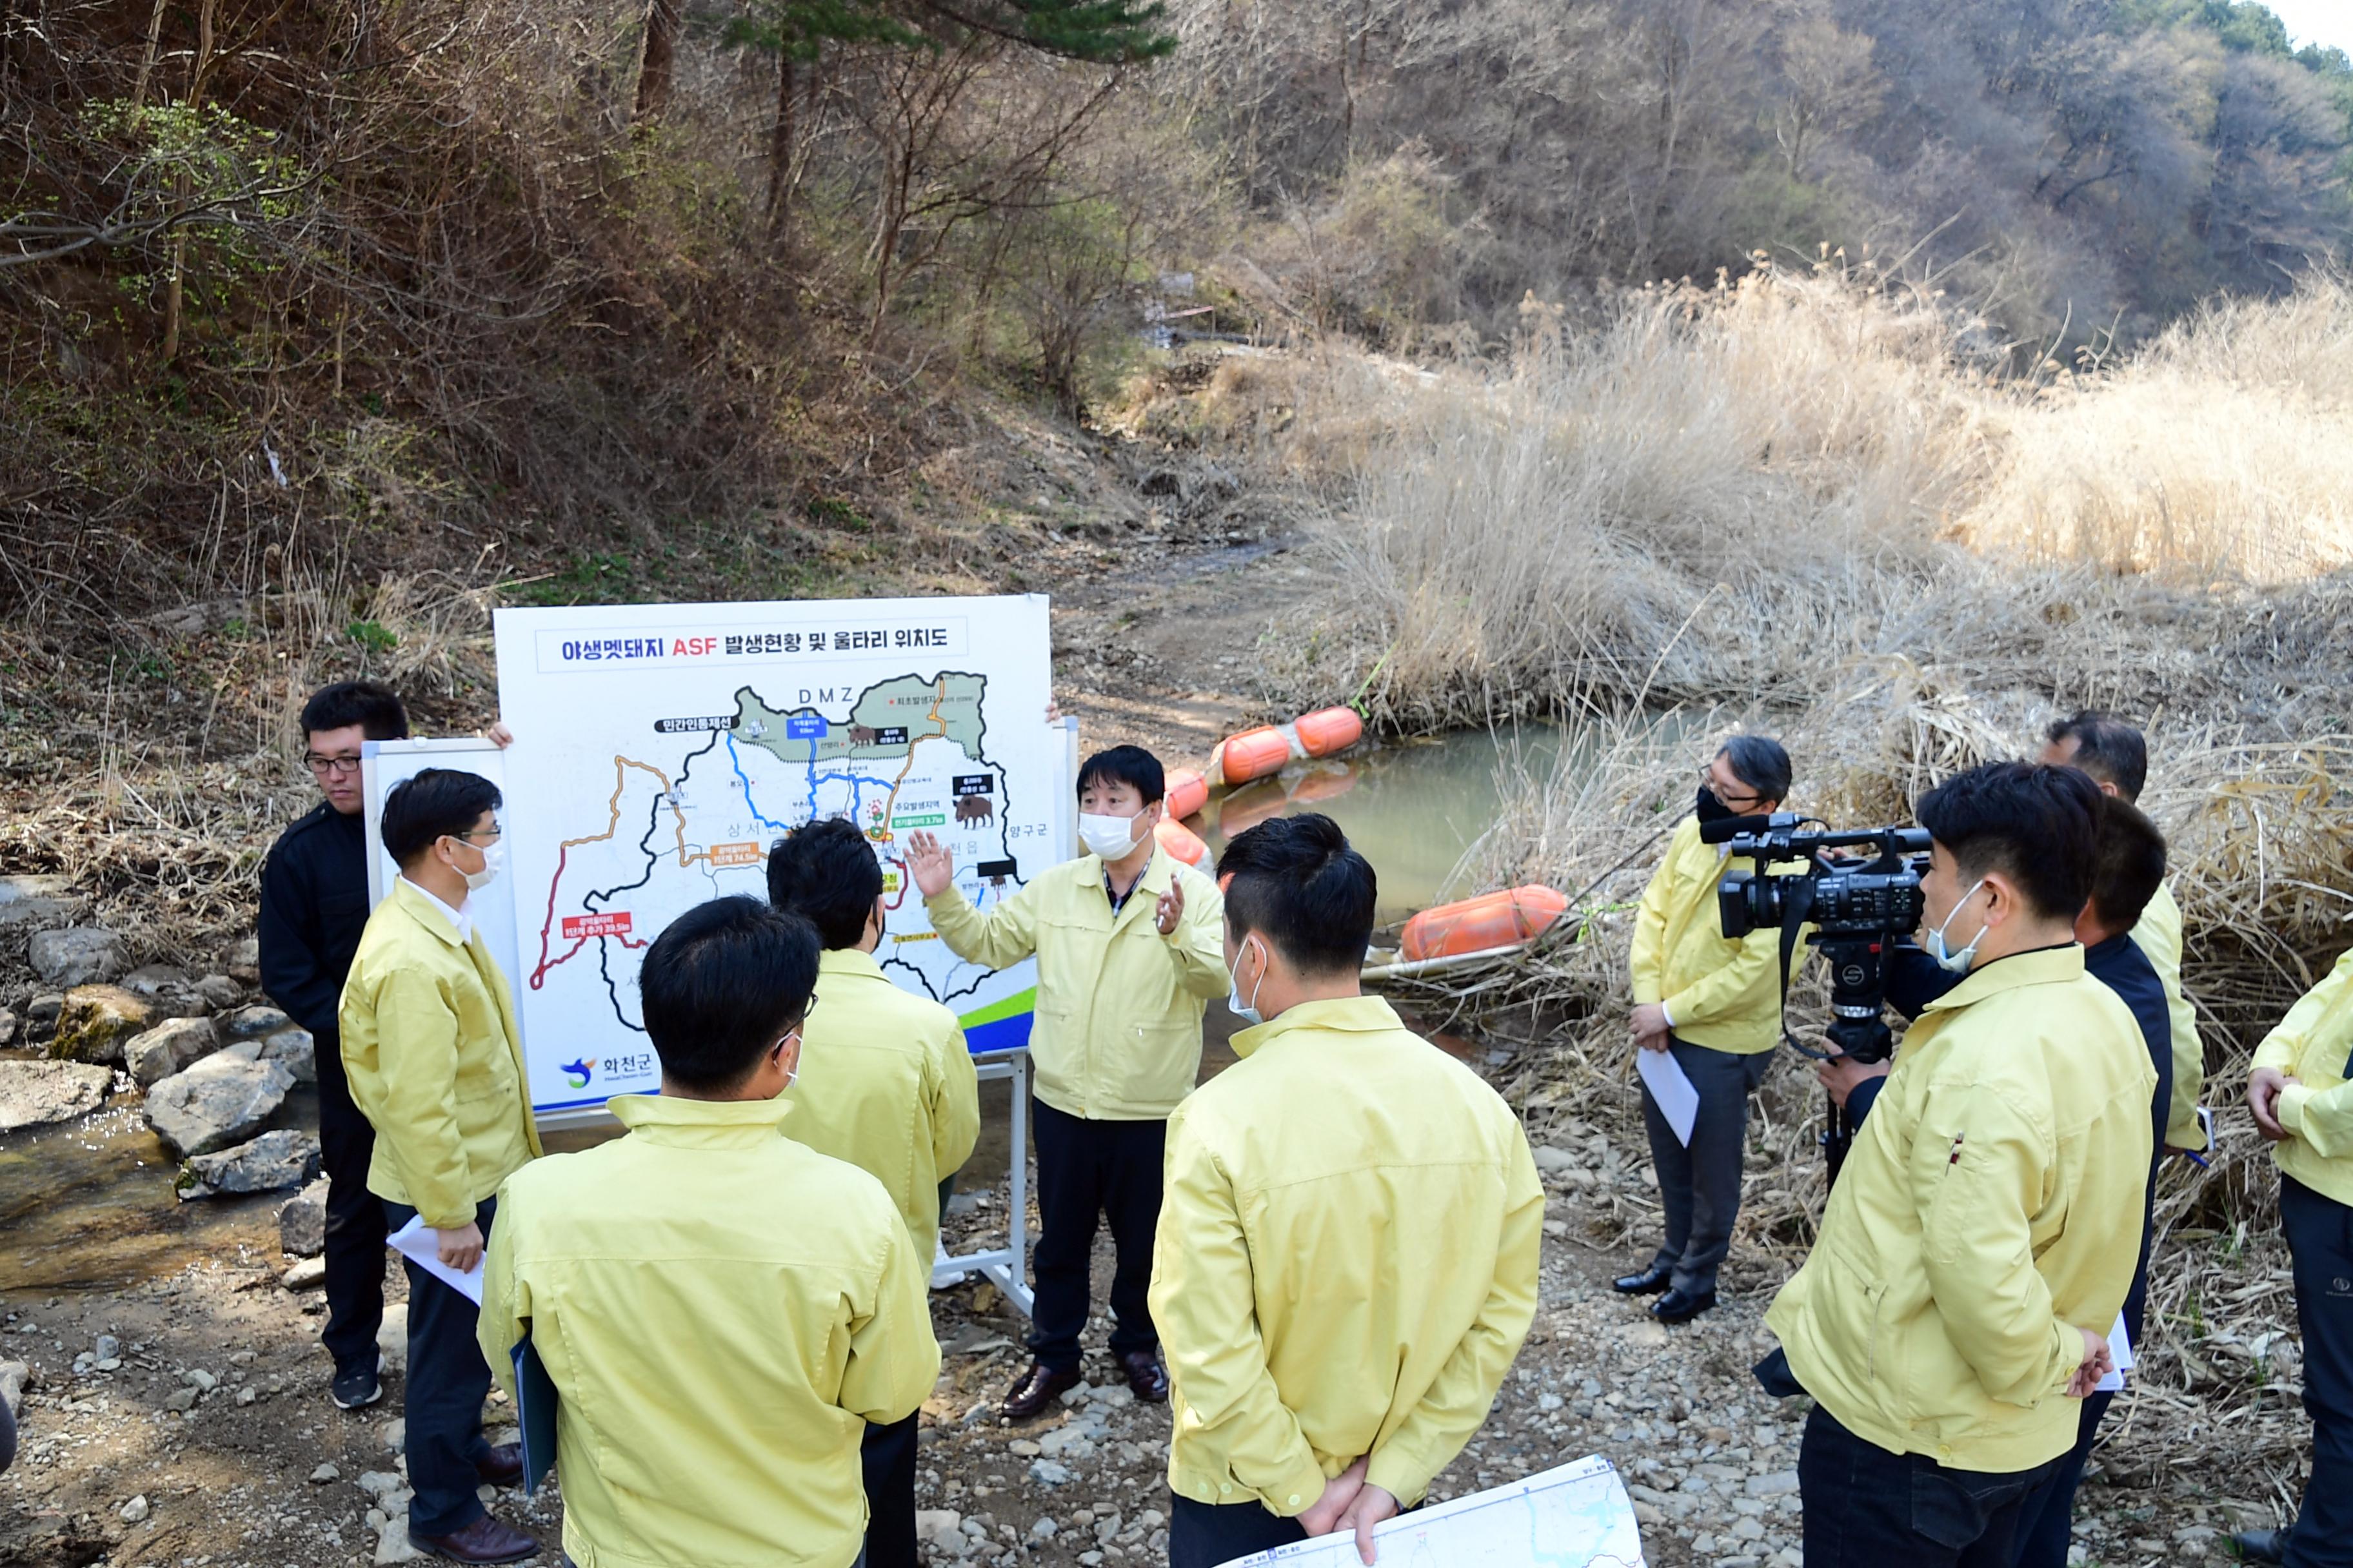
{"label": "yellow jacket of the man facing camera with raised hands", "polygon": [[[1172,879],[1184,884],[1184,919],[1160,936]],[[922,907],[962,959],[1005,969],[1038,954],[1031,1067],[1040,1100],[1094,1121],[1158,1121],[1193,1091],[1200,1013],[1233,985],[1226,903],[1198,870],[1153,849],[1118,914],[1096,856],[1040,872],[988,914],[953,884]]]}

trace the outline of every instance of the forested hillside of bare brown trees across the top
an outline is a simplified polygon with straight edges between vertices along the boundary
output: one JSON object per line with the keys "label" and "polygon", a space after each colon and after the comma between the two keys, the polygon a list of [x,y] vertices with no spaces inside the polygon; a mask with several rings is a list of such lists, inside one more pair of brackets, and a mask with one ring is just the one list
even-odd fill
{"label": "forested hillside of bare brown trees across the top", "polygon": [[1485,357],[1765,259],[2031,376],[2353,233],[2353,66],[2231,0],[5,0],[0,143],[0,607],[78,635],[824,588],[1160,317]]}

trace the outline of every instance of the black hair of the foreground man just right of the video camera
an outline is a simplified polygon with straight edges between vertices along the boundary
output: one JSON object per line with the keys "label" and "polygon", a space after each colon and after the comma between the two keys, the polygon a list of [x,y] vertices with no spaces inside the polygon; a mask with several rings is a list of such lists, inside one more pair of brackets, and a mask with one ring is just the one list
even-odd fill
{"label": "black hair of the foreground man just right of the video camera", "polygon": [[2002,872],[2035,914],[2075,919],[2092,896],[2099,802],[2080,769],[1986,762],[1922,795],[1918,816],[1965,879]]}

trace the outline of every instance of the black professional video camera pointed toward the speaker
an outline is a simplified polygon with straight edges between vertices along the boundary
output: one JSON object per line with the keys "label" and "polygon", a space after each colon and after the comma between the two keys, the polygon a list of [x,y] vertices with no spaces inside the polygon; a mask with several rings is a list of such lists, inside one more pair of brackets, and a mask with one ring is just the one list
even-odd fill
{"label": "black professional video camera pointed toward the speaker", "polygon": [[[1887,973],[1894,940],[1920,926],[1927,907],[1920,872],[1927,870],[1927,827],[1854,827],[1800,832],[1814,818],[1777,811],[1704,823],[1704,844],[1727,844],[1732,856],[1758,870],[1729,872],[1715,886],[1718,919],[1727,938],[1781,931],[1781,1004],[1788,1006],[1788,966],[1802,936],[1831,964],[1831,1051],[1800,1044],[1784,1025],[1781,1037],[1817,1060],[1852,1056],[1885,1063],[1894,1053],[1887,1032]],[[1875,856],[1833,851],[1878,851]],[[1802,872],[1772,872],[1774,863],[1805,860]],[[1807,929],[1812,926],[1812,929]],[[1847,1159],[1854,1126],[1845,1107],[1831,1105],[1824,1152],[1831,1180]]]}

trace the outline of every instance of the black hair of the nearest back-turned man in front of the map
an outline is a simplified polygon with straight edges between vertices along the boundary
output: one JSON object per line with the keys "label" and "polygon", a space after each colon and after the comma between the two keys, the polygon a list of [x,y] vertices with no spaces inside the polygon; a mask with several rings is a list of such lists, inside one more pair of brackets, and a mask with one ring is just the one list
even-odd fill
{"label": "black hair of the nearest back-turned man in front of the map", "polygon": [[711,898],[654,938],[638,966],[638,1006],[661,1072],[725,1093],[809,1011],[816,926],[758,898]]}

